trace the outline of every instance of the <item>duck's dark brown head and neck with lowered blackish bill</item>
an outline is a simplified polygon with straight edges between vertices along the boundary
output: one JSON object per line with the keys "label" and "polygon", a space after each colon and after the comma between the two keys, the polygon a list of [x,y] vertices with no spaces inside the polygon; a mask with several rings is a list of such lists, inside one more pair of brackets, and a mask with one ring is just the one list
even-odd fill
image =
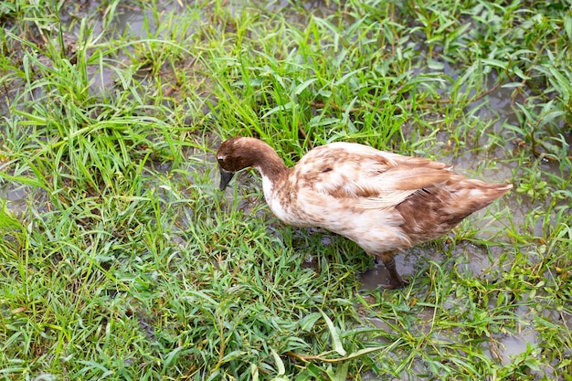
{"label": "duck's dark brown head and neck with lowered blackish bill", "polygon": [[217,161],[220,170],[220,190],[225,190],[236,172],[249,166],[272,179],[286,170],[286,166],[272,147],[255,138],[228,139],[220,144]]}

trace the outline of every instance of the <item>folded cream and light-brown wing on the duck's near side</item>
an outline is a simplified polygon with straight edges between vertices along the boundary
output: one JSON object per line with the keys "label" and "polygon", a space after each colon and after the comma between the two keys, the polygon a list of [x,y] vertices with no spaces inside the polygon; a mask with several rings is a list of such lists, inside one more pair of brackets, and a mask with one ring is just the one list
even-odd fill
{"label": "folded cream and light-brown wing on the duck's near side", "polygon": [[315,174],[313,189],[354,199],[353,206],[386,209],[446,183],[453,174],[448,164],[362,147],[358,146],[358,151],[333,150],[332,156],[323,157],[316,168],[320,173]]}

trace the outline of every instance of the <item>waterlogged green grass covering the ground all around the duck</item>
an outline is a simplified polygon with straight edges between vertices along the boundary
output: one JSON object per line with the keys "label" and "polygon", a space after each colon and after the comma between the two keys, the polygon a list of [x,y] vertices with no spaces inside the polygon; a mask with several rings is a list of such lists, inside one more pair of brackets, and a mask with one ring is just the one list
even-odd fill
{"label": "waterlogged green grass covering the ground all around the duck", "polygon": [[[1,379],[572,380],[570,1],[155,3],[0,4]],[[366,290],[235,135],[515,186]]]}

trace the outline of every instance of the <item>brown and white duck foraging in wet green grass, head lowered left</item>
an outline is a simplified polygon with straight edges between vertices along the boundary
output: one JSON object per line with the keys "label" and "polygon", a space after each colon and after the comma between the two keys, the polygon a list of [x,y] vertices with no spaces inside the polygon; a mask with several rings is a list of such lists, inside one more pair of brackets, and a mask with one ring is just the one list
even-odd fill
{"label": "brown and white duck foraging in wet green grass, head lowered left", "polygon": [[283,223],[327,229],[380,259],[389,274],[384,289],[408,284],[397,272],[397,253],[442,237],[513,188],[359,143],[324,144],[287,167],[268,143],[239,136],[219,146],[217,164],[221,191],[235,173],[253,167],[266,203]]}

